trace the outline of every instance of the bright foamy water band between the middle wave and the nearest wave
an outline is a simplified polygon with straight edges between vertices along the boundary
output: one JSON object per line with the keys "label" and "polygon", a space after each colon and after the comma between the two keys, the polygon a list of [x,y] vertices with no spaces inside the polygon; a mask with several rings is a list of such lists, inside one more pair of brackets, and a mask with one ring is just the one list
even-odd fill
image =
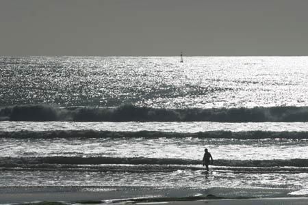
{"label": "bright foamy water band between the middle wave and the nearest wave", "polygon": [[202,159],[208,148],[214,159],[308,159],[307,139],[0,139],[1,156],[112,156]]}

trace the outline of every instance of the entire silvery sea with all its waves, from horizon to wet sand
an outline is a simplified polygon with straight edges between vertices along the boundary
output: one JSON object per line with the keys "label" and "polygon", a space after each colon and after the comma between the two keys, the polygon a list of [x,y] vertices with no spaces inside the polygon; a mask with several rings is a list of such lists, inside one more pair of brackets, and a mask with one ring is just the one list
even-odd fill
{"label": "entire silvery sea with all its waves, from horizon to wet sand", "polygon": [[0,192],[308,196],[307,87],[308,57],[0,57]]}

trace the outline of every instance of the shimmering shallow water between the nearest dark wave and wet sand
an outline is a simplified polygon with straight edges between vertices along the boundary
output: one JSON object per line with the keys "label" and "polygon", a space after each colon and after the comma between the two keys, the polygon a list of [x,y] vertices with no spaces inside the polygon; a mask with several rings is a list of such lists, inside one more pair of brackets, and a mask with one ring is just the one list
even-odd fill
{"label": "shimmering shallow water between the nearest dark wave and wet sand", "polygon": [[[172,173],[146,172],[7,172],[2,171],[1,187],[47,186],[118,186],[118,187],[188,187],[224,188],[279,188],[300,190],[308,186],[308,174],[242,174],[232,172],[175,171]],[[223,185],[223,186],[222,186]]]}

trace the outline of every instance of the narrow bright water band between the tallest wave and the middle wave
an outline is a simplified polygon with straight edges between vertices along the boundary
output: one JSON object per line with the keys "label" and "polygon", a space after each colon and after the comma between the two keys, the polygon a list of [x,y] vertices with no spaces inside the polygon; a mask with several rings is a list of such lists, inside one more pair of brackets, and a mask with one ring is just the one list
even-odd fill
{"label": "narrow bright water band between the tallest wave and the middle wave", "polygon": [[308,122],[11,122],[0,121],[0,131],[308,131]]}

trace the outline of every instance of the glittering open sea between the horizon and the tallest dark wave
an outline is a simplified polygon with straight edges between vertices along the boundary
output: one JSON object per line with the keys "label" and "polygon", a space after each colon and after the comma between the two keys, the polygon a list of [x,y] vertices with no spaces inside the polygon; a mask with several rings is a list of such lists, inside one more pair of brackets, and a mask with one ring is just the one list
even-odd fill
{"label": "glittering open sea between the horizon and the tallest dark wave", "polygon": [[0,104],[307,106],[308,57],[0,57]]}

